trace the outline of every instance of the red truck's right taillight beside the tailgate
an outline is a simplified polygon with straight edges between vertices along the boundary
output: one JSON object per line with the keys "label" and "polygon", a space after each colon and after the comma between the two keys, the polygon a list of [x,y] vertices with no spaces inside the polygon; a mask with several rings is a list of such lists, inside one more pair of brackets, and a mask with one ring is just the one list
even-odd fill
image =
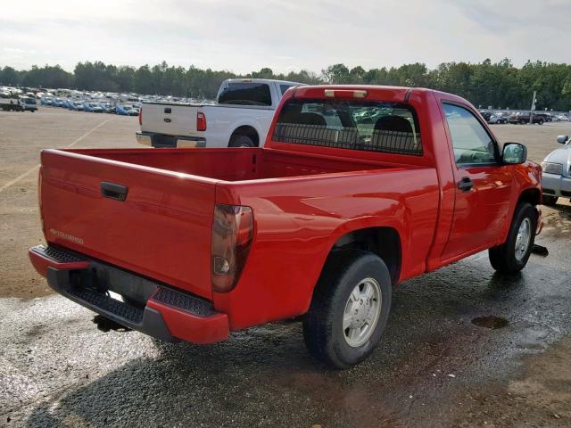
{"label": "red truck's right taillight beside the tailgate", "polygon": [[211,278],[214,292],[229,292],[238,283],[253,237],[252,209],[216,204],[212,221]]}

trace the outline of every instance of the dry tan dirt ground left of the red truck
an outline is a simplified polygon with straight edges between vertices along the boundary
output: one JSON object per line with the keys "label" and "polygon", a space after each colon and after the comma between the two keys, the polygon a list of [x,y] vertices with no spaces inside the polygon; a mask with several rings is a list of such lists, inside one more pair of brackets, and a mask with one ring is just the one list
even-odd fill
{"label": "dry tan dirt ground left of the red truck", "polygon": [[30,298],[51,293],[29,269],[26,249],[43,242],[37,212],[39,152],[65,147],[141,147],[137,118],[44,108],[0,112],[0,296]]}

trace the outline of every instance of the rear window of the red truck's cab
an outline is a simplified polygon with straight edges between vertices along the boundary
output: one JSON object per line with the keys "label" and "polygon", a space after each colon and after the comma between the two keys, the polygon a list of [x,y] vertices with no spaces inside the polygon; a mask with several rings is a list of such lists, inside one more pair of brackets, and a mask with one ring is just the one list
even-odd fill
{"label": "rear window of the red truck's cab", "polygon": [[422,155],[416,114],[401,103],[290,100],[274,141],[339,149]]}

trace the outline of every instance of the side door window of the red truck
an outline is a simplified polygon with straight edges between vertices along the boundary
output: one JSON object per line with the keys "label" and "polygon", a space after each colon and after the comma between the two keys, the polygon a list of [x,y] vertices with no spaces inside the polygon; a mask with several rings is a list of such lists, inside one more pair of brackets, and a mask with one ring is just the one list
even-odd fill
{"label": "side door window of the red truck", "polygon": [[495,163],[496,144],[474,114],[454,104],[443,104],[457,165]]}

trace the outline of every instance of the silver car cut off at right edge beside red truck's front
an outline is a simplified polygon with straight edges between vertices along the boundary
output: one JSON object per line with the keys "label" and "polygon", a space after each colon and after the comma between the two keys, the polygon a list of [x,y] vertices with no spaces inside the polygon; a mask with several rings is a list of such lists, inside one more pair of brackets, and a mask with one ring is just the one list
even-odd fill
{"label": "silver car cut off at right edge beside red truck's front", "polygon": [[571,140],[568,136],[558,136],[557,142],[565,145],[542,161],[544,205],[555,205],[558,198],[571,198]]}

